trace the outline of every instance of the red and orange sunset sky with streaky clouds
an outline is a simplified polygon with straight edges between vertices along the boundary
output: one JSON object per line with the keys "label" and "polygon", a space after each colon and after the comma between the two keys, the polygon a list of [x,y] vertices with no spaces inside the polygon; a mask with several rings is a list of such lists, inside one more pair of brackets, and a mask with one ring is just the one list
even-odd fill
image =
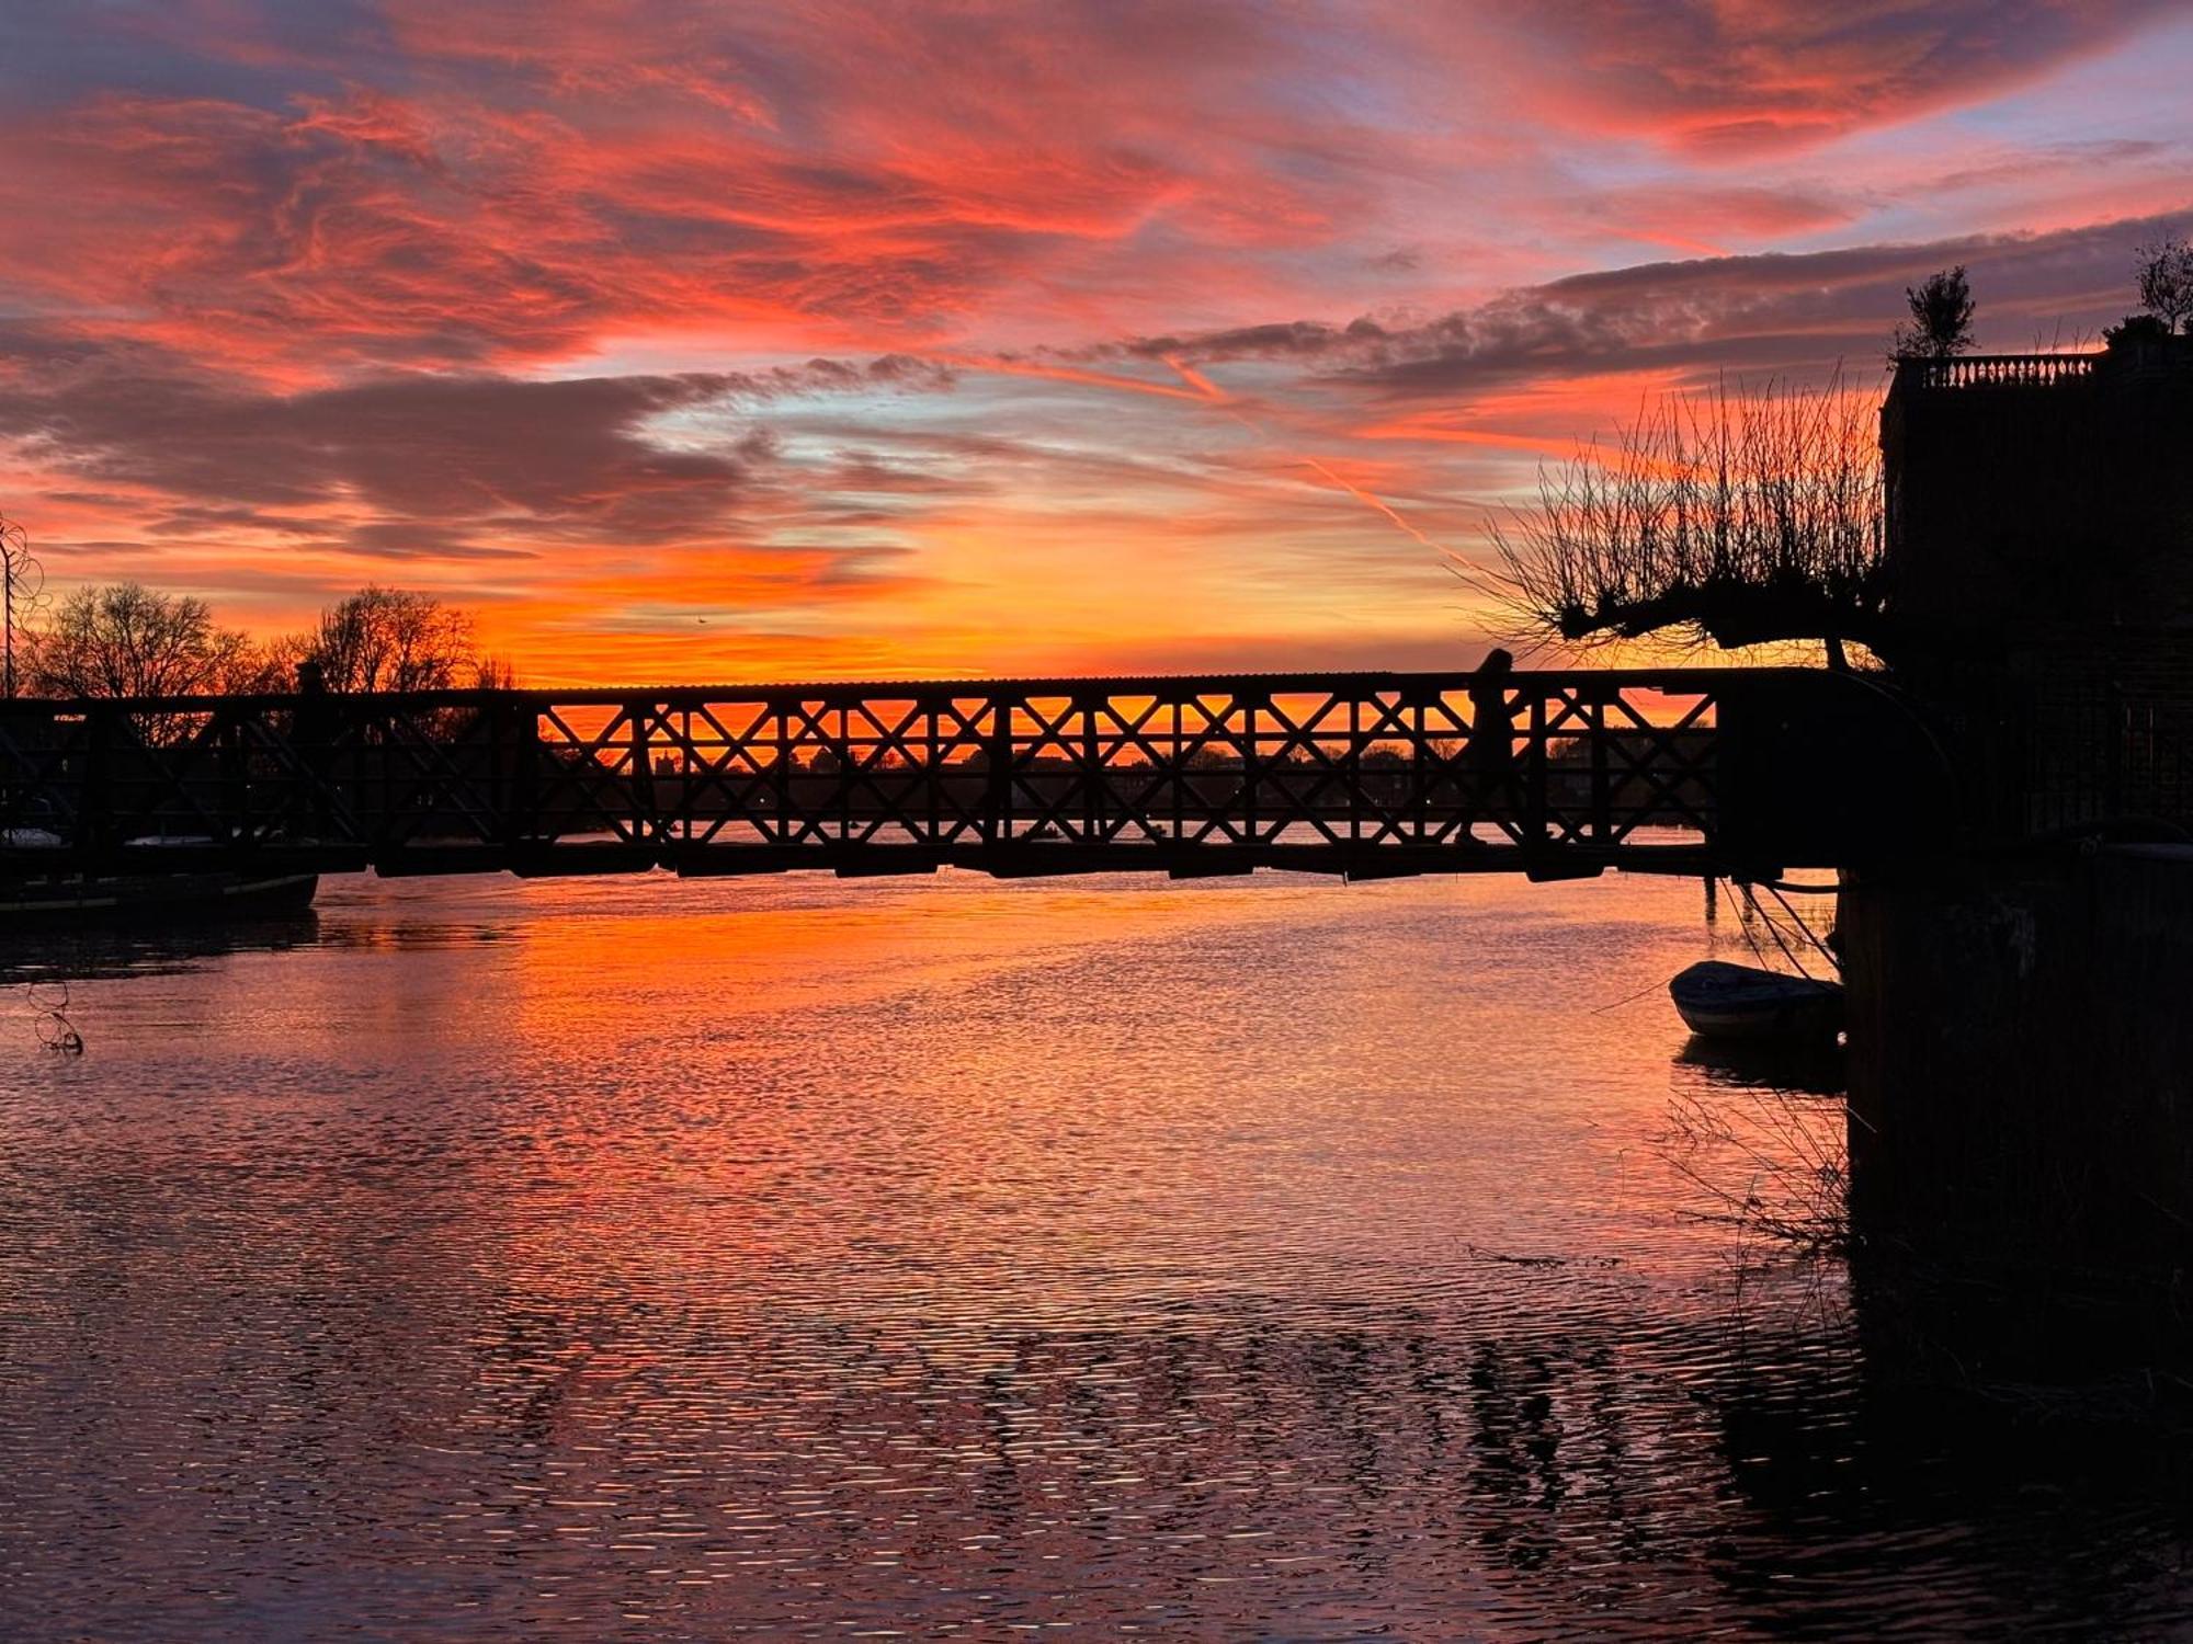
{"label": "red and orange sunset sky with streaky clouds", "polygon": [[2189,85],[2182,0],[9,0],[0,511],[537,684],[1461,664],[1640,397],[2125,313]]}

